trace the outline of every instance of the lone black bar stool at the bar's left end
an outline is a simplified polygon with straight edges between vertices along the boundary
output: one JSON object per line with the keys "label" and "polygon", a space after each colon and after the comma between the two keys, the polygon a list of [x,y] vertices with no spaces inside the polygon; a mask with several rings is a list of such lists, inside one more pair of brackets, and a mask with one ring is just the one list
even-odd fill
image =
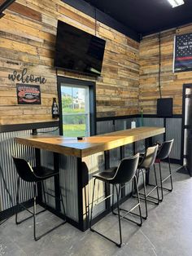
{"label": "lone black bar stool at the bar's left end", "polygon": [[[15,214],[15,223],[20,224],[20,223],[23,223],[28,218],[33,217],[33,236],[34,236],[34,240],[37,241],[42,236],[45,236],[47,233],[55,230],[55,228],[63,225],[64,223],[66,223],[66,220],[64,220],[62,223],[59,223],[59,225],[57,225],[56,227],[51,228],[49,231],[43,233],[41,236],[36,236],[36,215],[40,214],[41,212],[44,212],[46,210],[46,209],[44,209],[44,210],[39,211],[38,213],[36,212],[37,183],[41,182],[42,192],[43,192],[44,200],[45,200],[45,203],[46,203],[46,192],[45,192],[45,187],[44,187],[43,181],[46,180],[46,179],[50,179],[51,177],[54,177],[55,175],[59,175],[59,172],[55,172],[55,170],[50,170],[50,169],[42,167],[42,166],[32,167],[32,166],[30,166],[28,161],[26,161],[23,158],[19,158],[19,157],[13,157],[13,161],[15,163],[15,168],[16,168],[16,171],[17,171],[17,174],[18,174],[17,188],[16,188],[16,206],[17,206],[17,210],[16,210],[16,214]],[[31,210],[28,210],[26,207],[24,207],[24,205],[22,203],[19,202],[20,179],[23,179],[25,182],[28,182],[28,183],[33,183],[33,212]],[[60,188],[59,188],[59,192],[60,192],[59,201],[61,201],[61,204],[63,205],[63,214],[65,215],[63,197],[61,195],[61,189]],[[29,216],[28,218],[24,218],[23,220],[18,221],[18,210],[19,210],[20,206],[21,206],[21,208],[23,208],[24,210],[27,210],[32,215]]]}

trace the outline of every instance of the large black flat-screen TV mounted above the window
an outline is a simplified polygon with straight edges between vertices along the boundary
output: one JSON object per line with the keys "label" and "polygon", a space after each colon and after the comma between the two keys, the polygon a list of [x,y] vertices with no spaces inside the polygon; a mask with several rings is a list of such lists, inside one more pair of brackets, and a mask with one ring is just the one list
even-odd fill
{"label": "large black flat-screen TV mounted above the window", "polygon": [[58,21],[55,67],[100,76],[105,40]]}

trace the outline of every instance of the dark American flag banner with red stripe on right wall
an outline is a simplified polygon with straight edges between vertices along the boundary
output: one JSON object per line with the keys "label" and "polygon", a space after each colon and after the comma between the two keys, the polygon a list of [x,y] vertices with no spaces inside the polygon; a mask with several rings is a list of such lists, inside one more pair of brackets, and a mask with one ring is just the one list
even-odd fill
{"label": "dark American flag banner with red stripe on right wall", "polygon": [[173,72],[192,71],[192,33],[175,37]]}

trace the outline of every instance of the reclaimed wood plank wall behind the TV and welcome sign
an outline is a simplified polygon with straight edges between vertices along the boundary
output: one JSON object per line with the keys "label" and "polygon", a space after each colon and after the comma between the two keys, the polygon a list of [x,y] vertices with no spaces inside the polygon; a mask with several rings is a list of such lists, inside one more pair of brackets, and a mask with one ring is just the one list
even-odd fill
{"label": "reclaimed wood plank wall behind the TV and welcome sign", "polygon": [[[52,98],[57,96],[53,67],[57,20],[107,40],[102,78],[96,82],[97,117],[137,114],[137,42],[104,24],[95,24],[94,19],[59,0],[17,0],[5,14],[0,19],[0,125],[52,121]],[[41,105],[17,104],[16,82],[11,82],[8,74],[13,70],[20,73],[23,68],[28,68],[28,74],[46,77],[46,84],[41,85]]]}

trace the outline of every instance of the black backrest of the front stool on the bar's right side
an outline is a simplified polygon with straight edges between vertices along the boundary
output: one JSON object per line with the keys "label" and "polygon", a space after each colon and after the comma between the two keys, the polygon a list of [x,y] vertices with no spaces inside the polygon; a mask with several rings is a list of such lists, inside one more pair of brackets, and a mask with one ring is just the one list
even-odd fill
{"label": "black backrest of the front stool on the bar's right side", "polygon": [[117,167],[114,178],[111,180],[111,183],[121,184],[132,180],[137,170],[138,160],[139,153],[133,157],[125,157],[122,159]]}

